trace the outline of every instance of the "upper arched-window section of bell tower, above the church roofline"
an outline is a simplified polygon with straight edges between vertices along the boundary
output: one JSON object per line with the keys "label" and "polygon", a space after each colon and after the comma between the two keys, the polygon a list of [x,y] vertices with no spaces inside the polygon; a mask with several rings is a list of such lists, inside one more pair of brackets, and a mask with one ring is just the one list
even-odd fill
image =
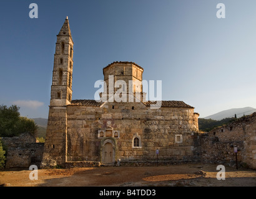
{"label": "upper arched-window section of bell tower, above the church roofline", "polygon": [[52,72],[51,106],[66,106],[71,103],[73,46],[74,42],[67,17],[57,35]]}

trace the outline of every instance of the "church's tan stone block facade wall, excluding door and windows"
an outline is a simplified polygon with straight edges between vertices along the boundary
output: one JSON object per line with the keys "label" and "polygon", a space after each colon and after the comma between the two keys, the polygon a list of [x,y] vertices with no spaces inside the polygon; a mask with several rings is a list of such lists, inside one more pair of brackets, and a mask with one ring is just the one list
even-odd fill
{"label": "church's tan stone block facade wall, excluding door and windows", "polygon": [[[132,108],[133,107],[133,108]],[[121,161],[193,159],[197,116],[192,108],[150,109],[142,103],[107,103],[102,108],[67,106],[67,160],[101,161],[101,129],[119,131],[116,157]],[[180,141],[177,142],[177,136]],[[140,146],[133,147],[134,137]]]}

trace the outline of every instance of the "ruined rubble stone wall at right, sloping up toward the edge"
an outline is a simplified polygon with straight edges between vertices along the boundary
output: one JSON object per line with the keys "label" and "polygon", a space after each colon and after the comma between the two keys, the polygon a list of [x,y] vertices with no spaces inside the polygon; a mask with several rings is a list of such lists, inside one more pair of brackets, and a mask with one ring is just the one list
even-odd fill
{"label": "ruined rubble stone wall at right, sloping up toward the edge", "polygon": [[234,146],[238,161],[256,169],[256,113],[200,136],[203,162],[234,164]]}

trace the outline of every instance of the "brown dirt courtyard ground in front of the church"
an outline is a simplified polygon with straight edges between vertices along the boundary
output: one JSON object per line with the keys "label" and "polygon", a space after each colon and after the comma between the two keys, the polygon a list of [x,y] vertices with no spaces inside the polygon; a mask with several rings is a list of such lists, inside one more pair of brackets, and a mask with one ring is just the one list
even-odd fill
{"label": "brown dirt courtyard ground in front of the church", "polygon": [[225,167],[225,180],[217,180],[217,165],[185,164],[159,167],[97,167],[0,171],[2,187],[256,187],[256,170]]}

